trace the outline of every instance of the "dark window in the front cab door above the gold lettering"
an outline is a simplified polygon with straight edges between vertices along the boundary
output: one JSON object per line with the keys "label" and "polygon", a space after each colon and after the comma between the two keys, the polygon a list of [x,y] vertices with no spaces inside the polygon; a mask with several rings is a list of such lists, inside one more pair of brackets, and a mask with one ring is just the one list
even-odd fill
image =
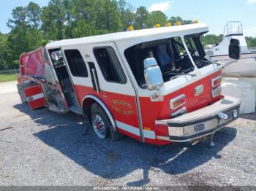
{"label": "dark window in the front cab door above the gold lettering", "polygon": [[126,83],[127,78],[112,47],[94,48],[94,56],[106,81]]}

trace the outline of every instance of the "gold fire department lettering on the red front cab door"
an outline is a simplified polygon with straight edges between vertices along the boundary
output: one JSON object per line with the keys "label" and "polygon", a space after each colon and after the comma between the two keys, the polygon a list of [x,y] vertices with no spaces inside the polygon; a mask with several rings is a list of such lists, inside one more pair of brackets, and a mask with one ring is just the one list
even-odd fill
{"label": "gold fire department lettering on the red front cab door", "polygon": [[[124,114],[125,116],[133,115],[132,104],[128,103],[127,101],[123,100],[113,100],[112,101],[112,108],[115,112],[119,114]],[[122,109],[127,108],[127,109]]]}

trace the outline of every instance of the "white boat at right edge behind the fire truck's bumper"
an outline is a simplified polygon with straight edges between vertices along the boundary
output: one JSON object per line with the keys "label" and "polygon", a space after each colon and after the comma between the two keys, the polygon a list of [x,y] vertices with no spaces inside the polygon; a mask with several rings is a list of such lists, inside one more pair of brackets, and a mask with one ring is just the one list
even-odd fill
{"label": "white boat at right edge behind the fire truck's bumper", "polygon": [[[231,39],[238,39],[241,59],[231,61],[228,49]],[[256,107],[256,51],[249,50],[241,22],[231,21],[225,25],[222,42],[205,46],[206,55],[222,64],[223,95],[241,100],[241,114],[255,112]]]}

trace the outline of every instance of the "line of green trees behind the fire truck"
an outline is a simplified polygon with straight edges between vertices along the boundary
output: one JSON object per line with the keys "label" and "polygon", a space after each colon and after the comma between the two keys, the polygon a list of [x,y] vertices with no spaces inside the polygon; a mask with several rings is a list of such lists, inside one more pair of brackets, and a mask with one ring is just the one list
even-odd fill
{"label": "line of green trees behind the fire truck", "polygon": [[[135,7],[125,0],[50,0],[45,7],[30,2],[16,7],[7,21],[8,34],[0,32],[0,70],[18,69],[22,52],[35,50],[50,40],[72,39],[97,34],[152,28],[159,23],[192,23],[181,17],[167,17],[161,11],[148,12],[146,7]],[[203,44],[220,42],[222,36],[203,36]],[[256,38],[247,38],[256,47]]]}

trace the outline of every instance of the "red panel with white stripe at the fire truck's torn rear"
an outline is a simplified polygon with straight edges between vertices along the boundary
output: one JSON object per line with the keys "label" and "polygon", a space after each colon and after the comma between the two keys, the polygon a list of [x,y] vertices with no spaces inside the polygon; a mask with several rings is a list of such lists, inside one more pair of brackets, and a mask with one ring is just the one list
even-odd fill
{"label": "red panel with white stripe at the fire truck's torn rear", "polygon": [[45,95],[41,85],[34,85],[24,89],[30,109],[46,106]]}

